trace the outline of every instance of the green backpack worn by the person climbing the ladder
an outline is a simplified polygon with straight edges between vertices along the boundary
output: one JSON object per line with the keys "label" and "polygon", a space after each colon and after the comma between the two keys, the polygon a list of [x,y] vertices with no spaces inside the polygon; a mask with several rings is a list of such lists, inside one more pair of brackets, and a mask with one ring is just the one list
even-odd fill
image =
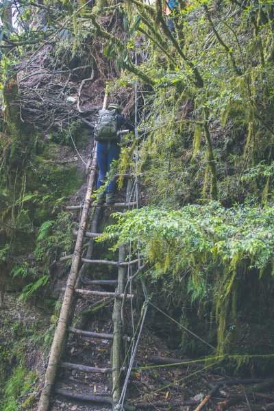
{"label": "green backpack worn by the person climbing the ladder", "polygon": [[94,131],[95,140],[117,140],[119,138],[117,133],[116,110],[99,110],[99,118]]}

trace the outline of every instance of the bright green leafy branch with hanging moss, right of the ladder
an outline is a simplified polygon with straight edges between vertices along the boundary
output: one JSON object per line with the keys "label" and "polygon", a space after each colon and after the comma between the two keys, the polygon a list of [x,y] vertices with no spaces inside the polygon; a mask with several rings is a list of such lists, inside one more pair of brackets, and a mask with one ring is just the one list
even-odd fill
{"label": "bright green leafy branch with hanging moss, right of the ladder", "polygon": [[[103,239],[116,240],[114,249],[127,242],[133,249],[139,247],[154,279],[168,277],[178,288],[187,276],[190,303],[206,299],[212,303],[219,349],[223,350],[232,336],[227,323],[232,329],[236,322],[238,282],[245,272],[255,271],[260,278],[273,273],[274,206],[246,204],[225,209],[210,202],[179,210],[144,207],[114,216],[118,223],[108,227]],[[166,296],[167,288],[162,292]],[[176,292],[180,289],[173,290],[173,298]]]}

